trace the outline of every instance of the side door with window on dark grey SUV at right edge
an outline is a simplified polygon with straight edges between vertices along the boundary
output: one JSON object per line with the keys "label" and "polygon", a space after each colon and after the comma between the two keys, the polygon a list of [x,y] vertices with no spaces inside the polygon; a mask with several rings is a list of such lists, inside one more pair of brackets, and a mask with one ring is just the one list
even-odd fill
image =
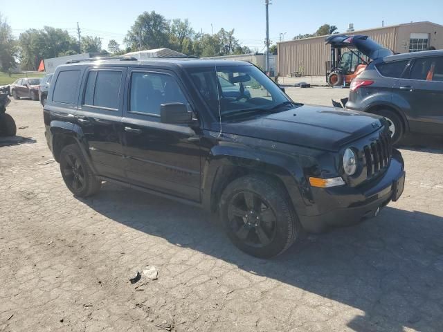
{"label": "side door with window on dark grey SUV at right edge", "polygon": [[411,131],[441,134],[443,130],[443,57],[414,59],[395,89],[409,104]]}

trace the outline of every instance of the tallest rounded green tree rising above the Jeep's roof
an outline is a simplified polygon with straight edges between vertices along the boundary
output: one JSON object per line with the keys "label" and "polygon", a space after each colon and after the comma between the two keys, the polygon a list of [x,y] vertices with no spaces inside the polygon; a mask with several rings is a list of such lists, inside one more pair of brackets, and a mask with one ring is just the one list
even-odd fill
{"label": "tallest rounded green tree rising above the Jeep's roof", "polygon": [[143,12],[138,15],[123,41],[131,50],[153,49],[169,46],[170,26],[163,15]]}

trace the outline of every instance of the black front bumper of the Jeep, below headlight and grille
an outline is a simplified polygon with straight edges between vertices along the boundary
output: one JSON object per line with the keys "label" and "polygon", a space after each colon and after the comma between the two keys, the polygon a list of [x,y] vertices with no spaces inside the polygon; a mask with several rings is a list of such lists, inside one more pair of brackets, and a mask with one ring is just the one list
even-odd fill
{"label": "black front bumper of the Jeep, below headlight and grille", "polygon": [[312,188],[314,215],[300,215],[300,223],[307,232],[322,232],[330,227],[358,223],[372,217],[379,208],[401,196],[404,187],[404,161],[397,150],[386,172],[370,183],[359,187]]}

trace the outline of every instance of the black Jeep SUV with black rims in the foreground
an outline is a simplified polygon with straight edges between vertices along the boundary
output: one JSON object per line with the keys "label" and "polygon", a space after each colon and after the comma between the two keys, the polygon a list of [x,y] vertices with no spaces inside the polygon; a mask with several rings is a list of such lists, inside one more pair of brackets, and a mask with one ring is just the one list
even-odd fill
{"label": "black Jeep SUV with black rims in the foreground", "polygon": [[386,120],[293,102],[246,62],[59,66],[44,122],[75,196],[114,181],[201,206],[257,257],[280,254],[303,230],[374,216],[404,187]]}

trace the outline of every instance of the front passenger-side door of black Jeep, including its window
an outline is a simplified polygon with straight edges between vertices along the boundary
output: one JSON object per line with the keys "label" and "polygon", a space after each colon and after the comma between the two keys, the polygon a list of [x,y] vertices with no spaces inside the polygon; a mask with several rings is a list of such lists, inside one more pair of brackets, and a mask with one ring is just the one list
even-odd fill
{"label": "front passenger-side door of black Jeep, including its window", "polygon": [[160,122],[161,104],[189,104],[183,88],[169,71],[129,73],[123,118],[127,176],[134,185],[199,201],[199,136],[187,124]]}

